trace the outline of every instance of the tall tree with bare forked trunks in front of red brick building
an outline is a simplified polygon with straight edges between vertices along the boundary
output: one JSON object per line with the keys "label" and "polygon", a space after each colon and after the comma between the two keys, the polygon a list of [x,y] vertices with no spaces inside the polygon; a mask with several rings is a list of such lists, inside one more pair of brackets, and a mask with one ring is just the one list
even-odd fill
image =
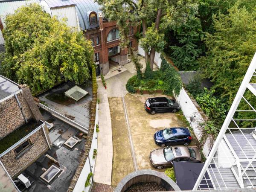
{"label": "tall tree with bare forked trunks in front of red brick building", "polygon": [[[121,32],[123,47],[128,45],[128,26],[142,25],[140,43],[145,50],[146,63],[153,70],[154,56],[164,48],[166,28],[180,26],[189,13],[195,12],[193,0],[96,0],[102,5],[103,14],[116,20]],[[136,2],[136,3],[135,3]],[[131,51],[131,50],[130,50]],[[131,53],[131,52],[130,52]]]}

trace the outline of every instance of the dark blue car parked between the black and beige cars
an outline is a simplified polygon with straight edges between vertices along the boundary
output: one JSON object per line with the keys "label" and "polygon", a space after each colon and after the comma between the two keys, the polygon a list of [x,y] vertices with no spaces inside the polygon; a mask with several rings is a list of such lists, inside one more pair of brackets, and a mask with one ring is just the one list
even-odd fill
{"label": "dark blue car parked between the black and beige cars", "polygon": [[157,145],[189,145],[192,137],[188,128],[165,128],[154,134],[154,141]]}

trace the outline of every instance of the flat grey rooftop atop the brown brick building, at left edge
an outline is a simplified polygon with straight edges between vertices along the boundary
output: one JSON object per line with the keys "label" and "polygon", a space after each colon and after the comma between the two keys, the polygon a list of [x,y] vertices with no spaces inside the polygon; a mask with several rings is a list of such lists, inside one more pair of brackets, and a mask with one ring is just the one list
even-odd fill
{"label": "flat grey rooftop atop the brown brick building, at left edge", "polygon": [[0,100],[19,90],[17,84],[0,76]]}

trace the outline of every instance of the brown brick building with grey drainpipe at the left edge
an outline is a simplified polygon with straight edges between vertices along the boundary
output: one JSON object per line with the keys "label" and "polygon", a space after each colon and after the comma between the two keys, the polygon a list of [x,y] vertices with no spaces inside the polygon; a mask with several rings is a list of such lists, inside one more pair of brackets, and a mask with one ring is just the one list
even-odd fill
{"label": "brown brick building with grey drainpipe at the left edge", "polygon": [[29,88],[0,76],[0,161],[11,177],[49,149],[43,120]]}

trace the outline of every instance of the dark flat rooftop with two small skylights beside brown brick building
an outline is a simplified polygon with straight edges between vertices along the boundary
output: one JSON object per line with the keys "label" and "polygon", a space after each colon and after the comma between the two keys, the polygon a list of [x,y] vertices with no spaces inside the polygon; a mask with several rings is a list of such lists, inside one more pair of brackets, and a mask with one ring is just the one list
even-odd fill
{"label": "dark flat rooftop with two small skylights beside brown brick building", "polygon": [[[25,190],[29,192],[66,192],[84,154],[85,139],[79,136],[80,131],[76,128],[71,127],[43,110],[41,110],[41,113],[47,122],[54,124],[49,131],[52,149],[49,149],[22,173],[31,183],[31,186]],[[77,137],[81,141],[76,143],[73,148],[69,148],[64,143],[70,137]],[[52,157],[54,160],[49,157]],[[52,165],[61,169],[61,171],[48,183],[41,178],[41,175]],[[23,185],[17,183],[16,185],[20,191],[24,188]]]}

